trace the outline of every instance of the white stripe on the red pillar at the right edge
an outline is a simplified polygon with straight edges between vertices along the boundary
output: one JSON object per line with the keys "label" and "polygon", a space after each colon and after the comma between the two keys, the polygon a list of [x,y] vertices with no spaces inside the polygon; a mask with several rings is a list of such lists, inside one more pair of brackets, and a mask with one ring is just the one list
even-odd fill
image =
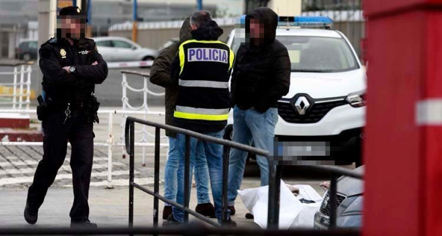
{"label": "white stripe on the red pillar at the right edge", "polygon": [[416,103],[417,125],[442,125],[442,98],[430,98]]}

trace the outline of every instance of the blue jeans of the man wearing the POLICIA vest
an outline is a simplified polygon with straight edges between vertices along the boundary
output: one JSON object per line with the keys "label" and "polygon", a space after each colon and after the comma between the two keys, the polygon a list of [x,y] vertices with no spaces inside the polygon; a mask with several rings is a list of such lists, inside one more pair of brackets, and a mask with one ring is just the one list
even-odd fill
{"label": "blue jeans of the man wearing the POLICIA vest", "polygon": [[[215,133],[204,133],[215,138],[221,138],[224,130]],[[177,137],[180,149],[180,167],[178,168],[178,191],[176,194],[176,202],[184,205],[184,153],[186,150],[186,137],[183,134],[178,134]],[[212,197],[215,204],[215,215],[218,221],[221,222],[221,205],[222,205],[222,146],[219,144],[198,141],[195,138],[190,139],[190,181],[192,182],[192,170],[195,165],[195,152],[202,150],[206,154],[207,165],[209,166],[210,185],[212,187]],[[199,160],[196,160],[198,162]],[[198,163],[196,163],[198,164]],[[190,192],[190,191],[189,191]],[[184,220],[184,211],[172,207],[173,217],[179,221]]]}

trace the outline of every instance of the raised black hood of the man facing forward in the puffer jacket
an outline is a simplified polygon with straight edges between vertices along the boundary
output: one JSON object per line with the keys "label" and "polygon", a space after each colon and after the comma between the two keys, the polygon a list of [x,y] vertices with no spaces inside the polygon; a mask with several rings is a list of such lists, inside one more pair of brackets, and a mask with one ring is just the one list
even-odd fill
{"label": "raised black hood of the man facing forward in the puffer jacket", "polygon": [[278,15],[272,9],[258,7],[248,14],[246,19],[259,19],[260,23],[264,24],[264,44],[270,44],[275,41]]}

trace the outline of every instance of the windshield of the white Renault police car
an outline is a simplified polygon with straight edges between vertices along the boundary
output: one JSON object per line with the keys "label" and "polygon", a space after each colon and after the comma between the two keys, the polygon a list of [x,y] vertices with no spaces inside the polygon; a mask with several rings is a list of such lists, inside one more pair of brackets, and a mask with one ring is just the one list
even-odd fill
{"label": "windshield of the white Renault police car", "polygon": [[342,72],[359,68],[343,38],[276,36],[287,48],[292,72]]}

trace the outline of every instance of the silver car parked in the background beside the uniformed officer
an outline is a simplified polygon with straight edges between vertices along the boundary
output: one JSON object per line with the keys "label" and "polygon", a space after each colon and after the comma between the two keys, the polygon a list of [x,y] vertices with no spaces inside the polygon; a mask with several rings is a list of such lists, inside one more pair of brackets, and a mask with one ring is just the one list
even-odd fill
{"label": "silver car parked in the background beside the uniformed officer", "polygon": [[98,52],[106,61],[153,60],[157,51],[143,48],[138,43],[124,37],[96,37]]}

